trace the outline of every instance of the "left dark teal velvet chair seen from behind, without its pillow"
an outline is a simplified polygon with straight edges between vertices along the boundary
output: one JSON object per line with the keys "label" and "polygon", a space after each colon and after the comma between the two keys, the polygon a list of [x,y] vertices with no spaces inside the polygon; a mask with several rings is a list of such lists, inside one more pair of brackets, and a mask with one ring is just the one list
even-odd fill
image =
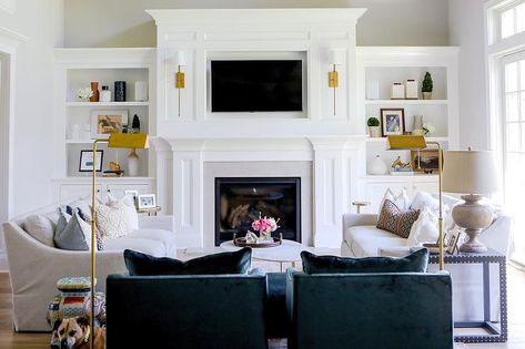
{"label": "left dark teal velvet chair seen from behind, without its pillow", "polygon": [[107,279],[107,347],[267,348],[266,277],[122,276]]}

